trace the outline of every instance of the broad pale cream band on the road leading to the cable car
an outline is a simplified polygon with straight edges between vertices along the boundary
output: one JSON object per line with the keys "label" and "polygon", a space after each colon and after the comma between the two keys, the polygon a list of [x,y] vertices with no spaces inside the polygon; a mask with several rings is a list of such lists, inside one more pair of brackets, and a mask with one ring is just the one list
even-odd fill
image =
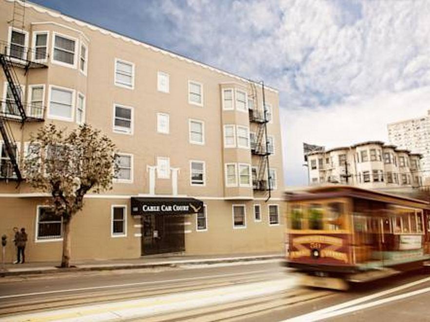
{"label": "broad pale cream band on the road leading to the cable car", "polygon": [[294,277],[277,281],[265,281],[239,286],[224,286],[211,290],[191,291],[150,298],[128,300],[114,303],[93,304],[15,315],[0,319],[5,321],[106,321],[151,317],[155,314],[189,310],[207,305],[231,303],[266,294],[274,294],[295,286]]}

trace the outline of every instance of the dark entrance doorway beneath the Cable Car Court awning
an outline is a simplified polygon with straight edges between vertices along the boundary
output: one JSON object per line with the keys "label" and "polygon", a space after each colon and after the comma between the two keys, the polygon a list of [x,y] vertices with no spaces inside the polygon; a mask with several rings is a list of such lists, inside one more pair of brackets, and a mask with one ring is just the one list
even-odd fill
{"label": "dark entrance doorway beneath the Cable Car Court awning", "polygon": [[142,255],[185,250],[184,215],[143,215],[141,223]]}

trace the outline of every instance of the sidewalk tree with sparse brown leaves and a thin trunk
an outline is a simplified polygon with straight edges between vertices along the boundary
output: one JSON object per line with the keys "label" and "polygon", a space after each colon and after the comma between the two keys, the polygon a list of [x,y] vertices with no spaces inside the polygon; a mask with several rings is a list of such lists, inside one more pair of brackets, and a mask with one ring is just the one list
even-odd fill
{"label": "sidewalk tree with sparse brown leaves and a thin trunk", "polygon": [[50,206],[62,218],[62,268],[70,266],[70,223],[82,209],[85,194],[112,189],[114,152],[111,139],[86,124],[72,131],[45,125],[29,143],[25,180],[38,191],[52,195]]}

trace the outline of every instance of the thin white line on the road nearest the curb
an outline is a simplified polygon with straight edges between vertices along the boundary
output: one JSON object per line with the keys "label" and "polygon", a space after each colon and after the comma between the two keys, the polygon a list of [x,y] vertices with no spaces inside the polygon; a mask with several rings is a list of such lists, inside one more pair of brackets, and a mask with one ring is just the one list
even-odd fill
{"label": "thin white line on the road nearest the curb", "polygon": [[183,282],[183,281],[191,281],[191,280],[195,281],[195,280],[203,280],[203,279],[208,279],[208,278],[251,275],[251,274],[267,273],[267,272],[268,271],[266,269],[262,269],[262,270],[253,270],[253,271],[241,272],[241,273],[217,274],[217,275],[206,275],[206,276],[197,276],[197,277],[184,277],[184,278],[169,279],[169,280],[159,280],[159,281],[146,281],[146,282],[135,282],[135,283],[126,283],[126,284],[114,284],[114,285],[103,285],[103,286],[89,286],[89,287],[57,289],[57,290],[44,291],[44,292],[32,292],[32,293],[2,295],[2,296],[0,296],[0,299],[10,299],[10,298],[17,298],[17,297],[24,297],[24,296],[67,293],[67,292],[76,292],[76,291],[87,291],[87,290],[106,289],[106,288],[115,288],[115,287],[151,285],[151,284],[158,284],[158,283]]}

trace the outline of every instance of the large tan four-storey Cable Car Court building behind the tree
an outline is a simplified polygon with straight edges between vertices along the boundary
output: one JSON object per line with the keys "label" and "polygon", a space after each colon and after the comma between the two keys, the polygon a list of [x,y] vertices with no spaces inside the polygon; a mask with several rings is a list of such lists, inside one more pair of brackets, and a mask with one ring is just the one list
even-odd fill
{"label": "large tan four-storey Cable Car Court building behind the tree", "polygon": [[282,250],[276,89],[31,2],[0,0],[0,40],[7,261],[13,227],[28,261],[60,259],[61,220],[20,180],[31,134],[51,122],[91,124],[119,151],[113,190],[72,222],[73,259]]}

